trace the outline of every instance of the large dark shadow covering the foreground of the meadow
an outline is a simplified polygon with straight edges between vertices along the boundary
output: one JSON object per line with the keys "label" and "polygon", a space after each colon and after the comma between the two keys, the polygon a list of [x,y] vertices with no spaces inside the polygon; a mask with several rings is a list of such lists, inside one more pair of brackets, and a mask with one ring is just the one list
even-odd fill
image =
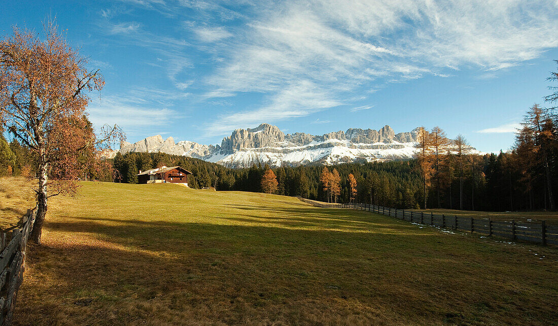
{"label": "large dark shadow covering the foreground of the meadow", "polygon": [[[302,214],[288,222],[301,227],[307,219],[335,227],[356,220],[370,229],[391,222],[350,211],[334,217],[328,209],[270,211]],[[45,239],[49,247],[31,251],[38,280],[36,288],[24,285],[21,296],[30,299],[18,312],[43,311],[35,315],[38,324],[57,322],[56,311],[83,324],[245,324],[249,316],[252,323],[311,324],[347,315],[368,323],[553,321],[552,270],[517,252],[502,256],[485,243],[397,220],[391,229],[399,233],[389,234],[288,229],[280,217],[247,217],[241,222],[271,226],[47,220],[52,238]],[[62,236],[91,241],[78,245]],[[96,238],[118,246],[99,246]]]}

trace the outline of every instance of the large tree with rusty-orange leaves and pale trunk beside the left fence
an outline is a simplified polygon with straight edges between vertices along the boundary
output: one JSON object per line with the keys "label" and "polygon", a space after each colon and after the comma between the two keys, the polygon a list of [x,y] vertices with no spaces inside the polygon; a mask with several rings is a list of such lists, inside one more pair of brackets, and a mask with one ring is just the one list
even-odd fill
{"label": "large tree with rusty-orange leaves and pale trunk beside the left fence", "polygon": [[37,243],[47,199],[78,188],[83,171],[78,154],[93,151],[100,158],[118,133],[105,126],[96,137],[87,127],[86,93],[104,85],[99,71],[87,65],[54,23],[45,26],[44,37],[14,28],[0,41],[0,122],[36,159],[38,210],[31,239]]}

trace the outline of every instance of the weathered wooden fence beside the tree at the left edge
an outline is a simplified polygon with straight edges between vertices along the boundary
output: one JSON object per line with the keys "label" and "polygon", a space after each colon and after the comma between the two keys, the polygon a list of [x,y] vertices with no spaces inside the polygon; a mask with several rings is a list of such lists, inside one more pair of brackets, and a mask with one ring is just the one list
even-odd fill
{"label": "weathered wooden fence beside the tree at the left edge", "polygon": [[17,291],[25,270],[25,248],[36,214],[37,208],[27,210],[17,227],[0,233],[0,325],[12,323]]}

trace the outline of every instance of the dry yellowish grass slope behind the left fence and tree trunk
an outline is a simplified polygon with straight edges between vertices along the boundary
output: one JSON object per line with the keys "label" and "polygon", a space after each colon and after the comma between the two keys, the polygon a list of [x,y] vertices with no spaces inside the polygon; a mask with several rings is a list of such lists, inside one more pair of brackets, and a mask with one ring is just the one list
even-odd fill
{"label": "dry yellowish grass slope behind the left fence and tree trunk", "polygon": [[0,178],[0,232],[16,226],[35,207],[35,191],[24,178]]}

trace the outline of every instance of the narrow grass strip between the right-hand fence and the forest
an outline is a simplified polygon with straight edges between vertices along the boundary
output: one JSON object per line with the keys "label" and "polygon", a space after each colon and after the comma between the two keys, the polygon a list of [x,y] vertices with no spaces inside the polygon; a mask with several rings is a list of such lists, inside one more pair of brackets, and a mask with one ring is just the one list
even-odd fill
{"label": "narrow grass strip between the right-hand fence and the forest", "polygon": [[546,220],[549,224],[558,224],[558,214],[550,211],[535,212],[482,212],[479,210],[459,210],[459,209],[412,209],[413,212],[425,212],[434,214],[458,215],[474,218],[491,218],[493,220],[516,220],[529,222],[530,220]]}

